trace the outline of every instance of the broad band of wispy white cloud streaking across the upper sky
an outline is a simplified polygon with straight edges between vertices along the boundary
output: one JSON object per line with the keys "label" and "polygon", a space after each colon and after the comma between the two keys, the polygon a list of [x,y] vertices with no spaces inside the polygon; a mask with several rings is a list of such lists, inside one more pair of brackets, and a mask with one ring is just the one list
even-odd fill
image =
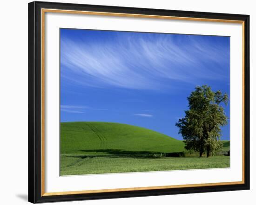
{"label": "broad band of wispy white cloud streaking across the upper sky", "polygon": [[[107,33],[102,31],[102,37]],[[64,36],[61,75],[86,86],[142,90],[170,88],[172,81],[223,80],[229,46],[209,38],[132,32],[115,32],[99,41]]]}

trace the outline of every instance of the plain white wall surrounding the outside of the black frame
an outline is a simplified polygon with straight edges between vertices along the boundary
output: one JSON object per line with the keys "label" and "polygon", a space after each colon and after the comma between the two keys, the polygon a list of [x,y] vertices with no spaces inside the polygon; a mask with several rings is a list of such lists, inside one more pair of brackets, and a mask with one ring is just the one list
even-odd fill
{"label": "plain white wall surrounding the outside of the black frame", "polygon": [[[254,0],[56,0],[109,6],[130,6],[201,12],[250,15],[251,67],[251,190],[182,194],[125,199],[62,202],[58,204],[130,205],[252,205],[256,201],[256,149],[253,145],[256,112],[256,76],[253,59],[256,49],[256,5]],[[27,3],[28,0],[1,2],[0,11],[0,204],[22,205],[27,202]],[[254,114],[254,116],[253,116]],[[210,176],[209,176],[210,177]]]}

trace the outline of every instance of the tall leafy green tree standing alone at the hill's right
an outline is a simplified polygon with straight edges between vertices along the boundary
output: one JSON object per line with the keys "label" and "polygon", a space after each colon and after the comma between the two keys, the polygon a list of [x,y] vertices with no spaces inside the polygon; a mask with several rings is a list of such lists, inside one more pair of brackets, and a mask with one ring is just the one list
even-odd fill
{"label": "tall leafy green tree standing alone at the hill's right", "polygon": [[212,91],[207,85],[196,86],[188,97],[189,110],[185,117],[179,119],[176,126],[180,128],[185,148],[200,153],[207,153],[207,157],[222,148],[221,126],[227,124],[227,116],[221,103],[228,103],[228,95],[222,95],[220,90]]}

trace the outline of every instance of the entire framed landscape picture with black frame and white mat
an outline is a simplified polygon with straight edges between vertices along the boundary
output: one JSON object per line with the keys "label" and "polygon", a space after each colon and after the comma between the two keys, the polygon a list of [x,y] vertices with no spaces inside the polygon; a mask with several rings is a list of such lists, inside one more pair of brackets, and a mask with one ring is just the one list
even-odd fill
{"label": "entire framed landscape picture with black frame and white mat", "polygon": [[28,4],[28,200],[249,189],[249,15]]}

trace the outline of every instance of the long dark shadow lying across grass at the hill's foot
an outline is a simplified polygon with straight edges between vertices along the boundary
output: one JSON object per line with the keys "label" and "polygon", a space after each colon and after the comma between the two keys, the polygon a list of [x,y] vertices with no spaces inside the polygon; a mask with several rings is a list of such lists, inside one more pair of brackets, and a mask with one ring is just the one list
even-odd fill
{"label": "long dark shadow lying across grass at the hill's foot", "polygon": [[161,153],[161,152],[151,152],[151,151],[128,151],[122,149],[85,149],[80,150],[81,152],[93,152],[93,153],[106,153],[95,154],[95,155],[76,155],[69,157],[76,158],[94,158],[94,157],[108,157],[108,158],[120,158],[120,157],[130,157],[130,158],[141,158],[141,159],[155,159],[162,157],[184,157],[184,152],[173,152],[173,153]]}

